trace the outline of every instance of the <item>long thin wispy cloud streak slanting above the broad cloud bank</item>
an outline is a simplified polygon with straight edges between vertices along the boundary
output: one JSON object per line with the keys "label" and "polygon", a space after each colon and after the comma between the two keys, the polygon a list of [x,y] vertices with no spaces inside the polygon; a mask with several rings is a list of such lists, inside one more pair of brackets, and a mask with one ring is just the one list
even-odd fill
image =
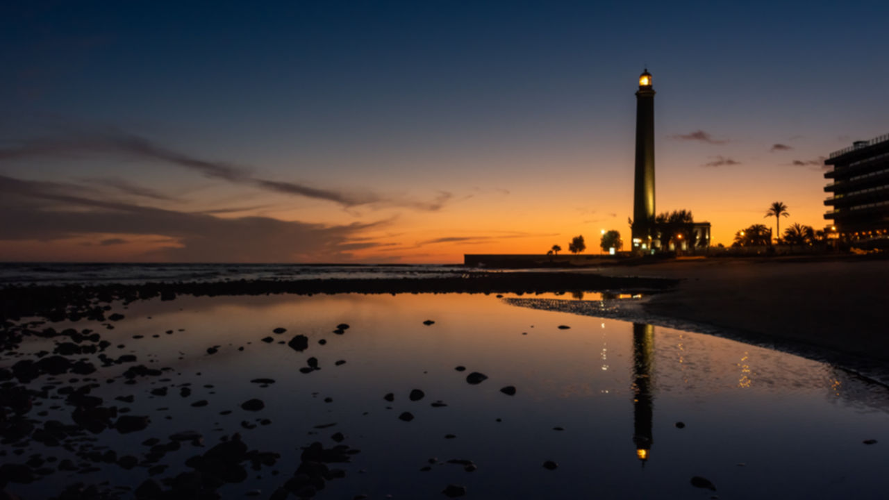
{"label": "long thin wispy cloud streak slanting above the broad cloud bank", "polygon": [[[260,190],[283,193],[292,196],[331,201],[347,208],[356,206],[386,207],[396,206],[416,210],[436,211],[453,198],[451,193],[441,191],[430,201],[416,201],[400,197],[386,197],[370,191],[353,192],[340,189],[323,189],[292,181],[276,181],[251,173],[248,169],[223,161],[212,161],[192,157],[180,151],[165,148],[153,141],[132,133],[76,133],[64,137],[49,137],[25,141],[19,146],[0,149],[0,161],[14,161],[28,157],[68,156],[78,154],[112,154],[139,157],[150,161],[175,165],[201,173],[205,177],[252,186]],[[93,180],[95,181],[95,180]],[[162,193],[140,189],[125,182],[103,181],[105,185],[119,190],[132,190],[137,196],[152,195],[165,197]]]}

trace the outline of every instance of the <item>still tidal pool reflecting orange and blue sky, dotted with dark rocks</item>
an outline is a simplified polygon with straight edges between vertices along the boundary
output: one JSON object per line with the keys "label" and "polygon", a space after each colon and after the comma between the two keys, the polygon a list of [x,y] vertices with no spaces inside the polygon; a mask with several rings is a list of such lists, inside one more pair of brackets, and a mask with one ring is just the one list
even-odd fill
{"label": "still tidal pool reflecting orange and blue sky, dotted with dark rocks", "polygon": [[[135,384],[104,383],[125,365],[92,375],[103,382],[92,394],[133,395],[120,406],[151,417],[144,431],[102,432],[92,446],[145,453],[148,438],[199,431],[209,448],[240,432],[251,449],[281,454],[274,466],[220,488],[226,498],[256,490],[268,497],[292,475],[300,447],[332,446],[336,432],[360,453],[337,464],[345,477],[328,481],[316,498],[444,498],[449,484],[465,487],[469,498],[885,498],[885,387],[744,343],[525,309],[503,300],[510,297],[180,297],[118,306],[126,318],[99,330],[123,345],[108,355],[132,353],[171,370]],[[340,323],[349,325],[345,333],[332,333]],[[287,331],[276,335],[276,327]],[[288,347],[293,335],[306,335],[308,349]],[[267,336],[274,341],[262,342]],[[40,349],[52,351],[52,341],[22,347]],[[320,369],[300,373],[310,357]],[[469,384],[471,372],[488,378]],[[258,378],[276,382],[251,383]],[[187,397],[180,397],[183,383],[190,383]],[[506,386],[515,395],[500,391]],[[151,394],[161,387],[167,395]],[[414,389],[422,399],[409,399]],[[265,407],[240,407],[252,398]],[[202,399],[206,406],[191,406]],[[70,411],[58,407],[44,418],[69,421]],[[413,419],[399,419],[404,412]],[[161,461],[168,468],[155,479],[188,470],[185,460],[204,451],[187,445],[168,453]],[[35,444],[24,456],[31,453],[61,457],[64,450]],[[477,468],[468,472],[452,459]],[[544,468],[546,461],[557,468]],[[107,465],[8,489],[45,496],[76,481],[135,487],[147,477],[142,467]],[[716,491],[696,488],[693,477]]]}

